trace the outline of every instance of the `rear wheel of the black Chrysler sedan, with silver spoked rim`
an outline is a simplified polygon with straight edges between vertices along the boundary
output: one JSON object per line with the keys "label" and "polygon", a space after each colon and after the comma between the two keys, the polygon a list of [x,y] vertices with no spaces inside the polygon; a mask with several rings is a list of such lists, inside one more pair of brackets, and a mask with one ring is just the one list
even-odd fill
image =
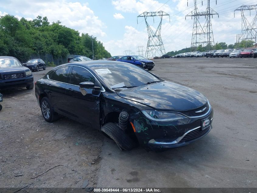
{"label": "rear wheel of the black Chrysler sedan, with silver spoked rim", "polygon": [[[46,107],[49,117],[47,115],[44,115],[44,113],[43,113],[43,111],[45,110],[44,106]],[[52,105],[47,97],[42,98],[41,103],[40,103],[40,108],[41,108],[41,113],[47,122],[53,122],[53,121],[56,121],[59,119],[59,117],[60,117],[59,114],[54,112],[54,109],[52,108]]]}

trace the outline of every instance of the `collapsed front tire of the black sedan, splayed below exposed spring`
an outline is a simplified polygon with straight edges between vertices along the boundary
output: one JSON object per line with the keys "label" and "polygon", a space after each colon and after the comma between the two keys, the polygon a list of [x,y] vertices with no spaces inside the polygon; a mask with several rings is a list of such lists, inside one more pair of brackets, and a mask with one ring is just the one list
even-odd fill
{"label": "collapsed front tire of the black sedan, splayed below exposed spring", "polygon": [[136,146],[135,142],[115,123],[106,123],[101,127],[101,131],[115,141],[121,150],[129,151]]}

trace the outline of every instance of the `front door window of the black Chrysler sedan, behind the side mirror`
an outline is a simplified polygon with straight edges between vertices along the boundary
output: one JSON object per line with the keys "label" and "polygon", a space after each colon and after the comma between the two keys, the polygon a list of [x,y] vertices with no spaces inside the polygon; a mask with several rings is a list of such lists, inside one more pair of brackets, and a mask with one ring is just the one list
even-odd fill
{"label": "front door window of the black Chrysler sedan, behind the side mirror", "polygon": [[79,85],[82,82],[93,82],[95,83],[95,77],[86,69],[74,66],[71,72],[71,83]]}

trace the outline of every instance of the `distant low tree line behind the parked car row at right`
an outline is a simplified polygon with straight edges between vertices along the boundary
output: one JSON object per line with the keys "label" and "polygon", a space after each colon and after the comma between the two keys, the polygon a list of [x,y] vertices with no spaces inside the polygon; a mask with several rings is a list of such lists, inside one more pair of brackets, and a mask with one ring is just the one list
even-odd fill
{"label": "distant low tree line behind the parked car row at right", "polygon": [[[212,50],[235,49],[235,48],[251,48],[251,47],[254,46],[254,44],[255,44],[254,41],[242,40],[241,42],[234,43],[234,45],[233,44],[227,45],[226,42],[220,42],[220,43],[216,43],[215,46],[211,46],[211,47],[212,47]],[[203,47],[202,45],[199,45],[197,47],[197,51],[205,52],[205,51],[207,51],[207,46]],[[185,53],[185,52],[190,52],[190,48],[183,48],[183,49],[175,51],[175,52],[174,51],[168,52],[167,54],[169,56],[173,56],[173,55],[180,54],[180,53]]]}

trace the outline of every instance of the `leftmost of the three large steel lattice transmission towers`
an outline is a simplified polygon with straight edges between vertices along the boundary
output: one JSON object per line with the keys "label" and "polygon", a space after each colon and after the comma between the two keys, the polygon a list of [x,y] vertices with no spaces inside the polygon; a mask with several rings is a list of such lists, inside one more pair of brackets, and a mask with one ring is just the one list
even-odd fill
{"label": "leftmost of the three large steel lattice transmission towers", "polygon": [[[162,40],[161,40],[161,22],[162,22],[162,17],[163,16],[169,16],[168,13],[165,13],[164,11],[158,11],[158,12],[144,12],[141,15],[137,16],[138,17],[144,17],[145,24],[147,27],[147,32],[148,32],[148,42],[147,42],[147,47],[146,47],[146,52],[145,52],[145,58],[148,59],[150,57],[156,56],[154,54],[158,54],[158,56],[166,54]],[[150,25],[147,22],[148,17],[159,17],[160,23],[155,30],[155,32],[152,30]],[[155,20],[154,20],[155,21]],[[156,51],[154,53],[154,51]]]}

